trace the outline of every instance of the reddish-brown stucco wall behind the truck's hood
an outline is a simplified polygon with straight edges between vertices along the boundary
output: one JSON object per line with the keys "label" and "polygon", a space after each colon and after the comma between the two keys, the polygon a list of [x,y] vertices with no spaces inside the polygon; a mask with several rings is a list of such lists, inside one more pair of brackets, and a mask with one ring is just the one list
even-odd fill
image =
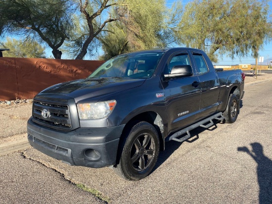
{"label": "reddish-brown stucco wall behind the truck's hood", "polygon": [[32,99],[45,88],[86,78],[103,61],[0,57],[0,101]]}

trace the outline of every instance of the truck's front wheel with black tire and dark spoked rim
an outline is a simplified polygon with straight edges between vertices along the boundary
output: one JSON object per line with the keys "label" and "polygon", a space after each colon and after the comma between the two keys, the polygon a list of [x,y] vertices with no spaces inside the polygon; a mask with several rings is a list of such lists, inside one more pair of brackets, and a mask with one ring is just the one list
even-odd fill
{"label": "truck's front wheel with black tire and dark spoked rim", "polygon": [[126,180],[138,181],[146,177],[157,162],[158,133],[150,123],[142,121],[133,126],[124,142],[119,163],[113,169]]}

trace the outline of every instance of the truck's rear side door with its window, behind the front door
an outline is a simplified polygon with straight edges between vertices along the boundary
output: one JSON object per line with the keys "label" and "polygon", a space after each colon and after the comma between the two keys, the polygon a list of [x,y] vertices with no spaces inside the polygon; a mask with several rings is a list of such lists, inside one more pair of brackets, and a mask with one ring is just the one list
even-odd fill
{"label": "truck's rear side door with its window, behind the front door", "polygon": [[219,105],[219,79],[214,69],[208,67],[201,52],[192,51],[191,54],[201,87],[200,118],[204,118],[213,114]]}

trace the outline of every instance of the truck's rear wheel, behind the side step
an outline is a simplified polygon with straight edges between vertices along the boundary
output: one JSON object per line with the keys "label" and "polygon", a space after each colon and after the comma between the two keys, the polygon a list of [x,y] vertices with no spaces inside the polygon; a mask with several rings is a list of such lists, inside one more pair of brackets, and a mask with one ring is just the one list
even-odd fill
{"label": "truck's rear wheel, behind the side step", "polygon": [[234,123],[238,116],[239,104],[235,94],[230,94],[227,102],[227,108],[223,112],[226,123]]}

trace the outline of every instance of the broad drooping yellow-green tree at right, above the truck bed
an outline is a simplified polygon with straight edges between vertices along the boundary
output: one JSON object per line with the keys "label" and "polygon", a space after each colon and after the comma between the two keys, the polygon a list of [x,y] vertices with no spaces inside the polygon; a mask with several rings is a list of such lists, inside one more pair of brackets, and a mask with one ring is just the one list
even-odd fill
{"label": "broad drooping yellow-green tree at right, above the truck bed", "polygon": [[174,29],[177,41],[204,50],[216,62],[218,55],[256,55],[271,41],[267,0],[194,0],[181,10]]}

